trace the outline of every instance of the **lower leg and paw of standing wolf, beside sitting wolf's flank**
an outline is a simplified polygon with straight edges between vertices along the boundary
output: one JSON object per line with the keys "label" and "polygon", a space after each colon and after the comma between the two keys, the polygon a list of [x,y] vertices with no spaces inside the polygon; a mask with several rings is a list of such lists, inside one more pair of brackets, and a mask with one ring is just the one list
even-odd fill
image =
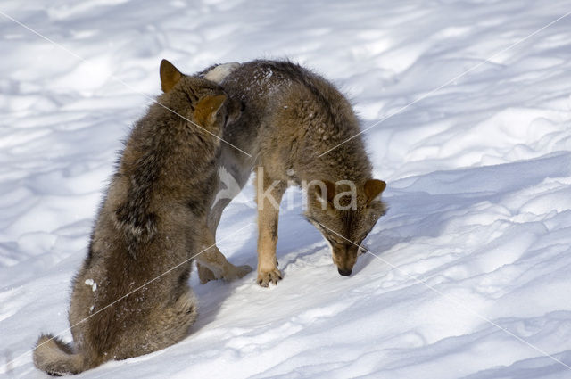
{"label": "lower leg and paw of standing wolf, beside sitting wolf's flank", "polygon": [[202,228],[202,249],[196,256],[196,266],[201,284],[214,279],[234,280],[243,277],[252,271],[248,265],[234,266],[228,262],[216,246],[216,238],[207,227]]}

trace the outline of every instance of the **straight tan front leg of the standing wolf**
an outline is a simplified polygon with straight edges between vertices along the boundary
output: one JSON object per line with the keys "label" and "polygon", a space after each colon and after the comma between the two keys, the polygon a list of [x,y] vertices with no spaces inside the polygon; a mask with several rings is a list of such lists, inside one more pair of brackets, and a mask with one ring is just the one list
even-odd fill
{"label": "straight tan front leg of the standing wolf", "polygon": [[[263,168],[262,168],[263,169]],[[282,278],[277,269],[277,218],[279,203],[286,185],[272,180],[264,170],[256,173],[256,200],[258,203],[258,284],[267,287]]]}

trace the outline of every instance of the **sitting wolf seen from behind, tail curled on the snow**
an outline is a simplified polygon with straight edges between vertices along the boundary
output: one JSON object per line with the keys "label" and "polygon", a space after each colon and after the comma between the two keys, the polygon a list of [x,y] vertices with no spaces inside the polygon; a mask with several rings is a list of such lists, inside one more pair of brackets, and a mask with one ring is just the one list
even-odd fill
{"label": "sitting wolf seen from behind, tail curled on the snow", "polygon": [[[37,342],[34,363],[49,374],[160,350],[183,339],[196,318],[187,284],[191,258],[214,243],[206,217],[217,180],[217,136],[240,105],[215,83],[187,77],[167,61],[161,87],[165,94],[131,131],[73,281],[75,345],[51,335]],[[227,279],[249,271],[216,248],[199,259]]]}

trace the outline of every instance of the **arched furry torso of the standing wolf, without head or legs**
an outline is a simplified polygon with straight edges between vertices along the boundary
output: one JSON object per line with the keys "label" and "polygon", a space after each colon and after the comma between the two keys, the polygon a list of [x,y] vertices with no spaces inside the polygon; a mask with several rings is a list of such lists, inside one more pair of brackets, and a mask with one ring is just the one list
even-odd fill
{"label": "arched furry torso of the standing wolf, without head or legs", "polygon": [[351,103],[318,74],[293,62],[258,60],[241,64],[221,84],[246,104],[240,122],[223,136],[258,156],[258,162],[259,153],[277,152],[288,169],[305,177],[371,177],[360,136],[319,158],[358,134],[360,126]]}

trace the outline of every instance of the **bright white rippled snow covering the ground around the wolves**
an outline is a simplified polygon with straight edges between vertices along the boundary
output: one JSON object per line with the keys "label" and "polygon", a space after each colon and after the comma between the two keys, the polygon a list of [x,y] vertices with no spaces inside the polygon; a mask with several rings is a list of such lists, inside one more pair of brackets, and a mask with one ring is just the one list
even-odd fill
{"label": "bright white rippled snow covering the ground around the wolves", "polygon": [[[194,72],[289,57],[342,87],[364,128],[425,96],[365,135],[391,207],[366,240],[378,259],[339,276],[290,190],[282,282],[193,275],[201,309],[185,341],[79,376],[571,377],[554,360],[571,366],[571,16],[528,37],[569,11],[568,0],[4,0],[0,12],[69,51],[0,15],[0,375],[45,377],[29,350],[69,326],[71,277],[120,140],[159,93],[161,58]],[[243,228],[220,249],[255,266],[251,199],[248,185],[219,240]]]}

